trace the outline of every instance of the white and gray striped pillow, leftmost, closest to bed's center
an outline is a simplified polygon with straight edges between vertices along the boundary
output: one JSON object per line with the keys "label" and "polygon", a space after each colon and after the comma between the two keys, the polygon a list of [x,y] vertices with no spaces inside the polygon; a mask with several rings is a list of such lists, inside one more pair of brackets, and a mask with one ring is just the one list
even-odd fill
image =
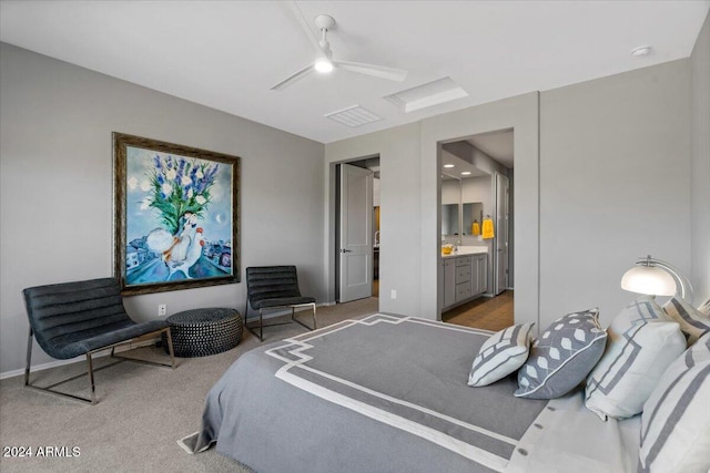
{"label": "white and gray striped pillow, leftmost, closest to bed's center", "polygon": [[520,368],[528,359],[534,325],[513,326],[491,335],[474,359],[468,385],[488,385]]}

